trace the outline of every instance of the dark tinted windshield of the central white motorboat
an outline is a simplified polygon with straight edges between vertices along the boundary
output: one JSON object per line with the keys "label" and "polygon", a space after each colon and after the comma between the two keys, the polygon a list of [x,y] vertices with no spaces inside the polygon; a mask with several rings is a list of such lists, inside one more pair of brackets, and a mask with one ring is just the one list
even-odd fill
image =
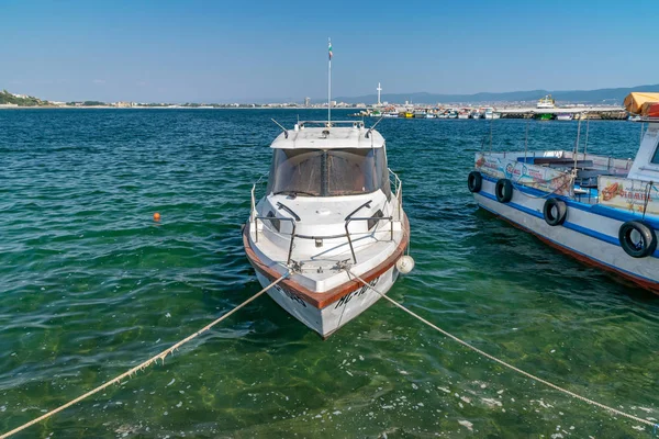
{"label": "dark tinted windshield of the central white motorboat", "polygon": [[301,196],[390,195],[384,148],[275,149],[268,193]]}

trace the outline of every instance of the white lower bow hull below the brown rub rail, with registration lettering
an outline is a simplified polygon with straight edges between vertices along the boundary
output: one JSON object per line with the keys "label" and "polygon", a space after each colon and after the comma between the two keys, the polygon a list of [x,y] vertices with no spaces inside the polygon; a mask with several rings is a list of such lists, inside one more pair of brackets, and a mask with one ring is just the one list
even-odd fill
{"label": "white lower bow hull below the brown rub rail, with registration lettering", "polygon": [[[370,284],[382,294],[387,294],[398,275],[395,266],[392,266]],[[264,288],[270,284],[270,280],[263,274],[257,272],[256,277]],[[380,299],[380,295],[371,289],[360,286],[337,302],[331,303],[324,308],[316,308],[283,286],[272,286],[268,290],[268,295],[289,314],[323,337],[328,337],[338,330]]]}

